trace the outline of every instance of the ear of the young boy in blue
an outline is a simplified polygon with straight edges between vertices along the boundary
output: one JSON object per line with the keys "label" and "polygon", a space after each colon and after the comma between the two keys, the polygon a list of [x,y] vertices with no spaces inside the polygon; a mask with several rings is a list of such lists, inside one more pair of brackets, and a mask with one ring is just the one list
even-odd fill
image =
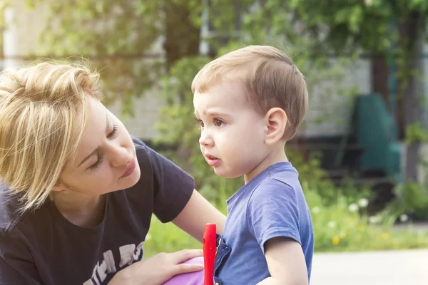
{"label": "ear of the young boy in blue", "polygon": [[265,143],[272,145],[282,139],[287,126],[287,114],[281,108],[271,108],[265,115],[267,133]]}

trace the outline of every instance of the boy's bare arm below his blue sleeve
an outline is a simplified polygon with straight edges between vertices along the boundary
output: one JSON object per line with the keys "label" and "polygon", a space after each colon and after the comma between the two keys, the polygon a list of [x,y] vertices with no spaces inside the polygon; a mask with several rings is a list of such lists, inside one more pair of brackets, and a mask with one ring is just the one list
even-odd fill
{"label": "boy's bare arm below his blue sleeve", "polygon": [[270,276],[258,285],[307,285],[307,269],[302,247],[294,239],[275,237],[265,244]]}

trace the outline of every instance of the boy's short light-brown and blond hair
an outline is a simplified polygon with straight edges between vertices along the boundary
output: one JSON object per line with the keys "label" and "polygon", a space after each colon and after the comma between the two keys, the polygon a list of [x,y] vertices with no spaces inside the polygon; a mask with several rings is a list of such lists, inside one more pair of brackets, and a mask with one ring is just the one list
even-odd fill
{"label": "boy's short light-brown and blond hair", "polygon": [[223,81],[242,81],[248,103],[265,115],[270,108],[287,114],[283,138],[290,140],[305,120],[308,93],[305,77],[291,59],[272,46],[246,46],[207,63],[195,76],[192,93],[205,93]]}

